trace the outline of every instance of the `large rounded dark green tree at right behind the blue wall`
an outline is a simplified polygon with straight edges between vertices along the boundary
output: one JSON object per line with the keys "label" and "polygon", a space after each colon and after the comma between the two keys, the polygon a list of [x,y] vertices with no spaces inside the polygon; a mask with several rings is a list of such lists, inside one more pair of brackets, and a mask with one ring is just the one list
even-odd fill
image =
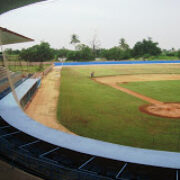
{"label": "large rounded dark green tree at right behind the blue wall", "polygon": [[139,41],[133,47],[133,55],[135,57],[144,57],[144,55],[156,56],[161,53],[161,49],[158,47],[157,42],[153,42],[151,38],[143,39]]}

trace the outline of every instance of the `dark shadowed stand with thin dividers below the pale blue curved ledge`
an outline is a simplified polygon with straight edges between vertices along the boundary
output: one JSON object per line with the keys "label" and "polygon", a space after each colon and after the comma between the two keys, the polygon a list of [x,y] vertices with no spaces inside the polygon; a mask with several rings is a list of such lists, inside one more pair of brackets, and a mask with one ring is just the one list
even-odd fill
{"label": "dark shadowed stand with thin dividers below the pale blue curved ledge", "polygon": [[[178,171],[175,169],[116,161],[58,147],[17,130],[0,117],[0,152],[2,143],[8,143],[6,147],[10,147],[13,152],[21,153],[22,156],[15,157],[22,165],[24,161],[27,166],[25,160],[31,159],[29,167],[46,179],[71,179],[68,177],[75,173],[80,178],[74,179],[178,180]],[[11,156],[9,150],[7,153],[4,155]],[[54,169],[53,175],[46,173],[48,166]],[[67,170],[69,173],[62,176],[61,173]]]}

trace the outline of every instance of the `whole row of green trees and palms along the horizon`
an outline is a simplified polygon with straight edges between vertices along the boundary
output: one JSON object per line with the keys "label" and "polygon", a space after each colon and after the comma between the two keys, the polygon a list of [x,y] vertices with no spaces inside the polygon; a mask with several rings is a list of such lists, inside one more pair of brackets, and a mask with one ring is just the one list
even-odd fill
{"label": "whole row of green trees and palms along the horizon", "polygon": [[180,50],[161,49],[158,42],[152,38],[143,39],[135,43],[133,48],[127,44],[124,38],[119,40],[118,46],[109,49],[100,48],[96,37],[93,38],[91,46],[80,42],[76,34],[71,36],[70,44],[74,50],[61,48],[54,49],[48,42],[41,42],[39,45],[22,50],[6,49],[8,55],[18,55],[21,60],[29,62],[44,62],[51,60],[66,61],[92,61],[103,60],[128,60],[128,59],[177,59],[180,58]]}

